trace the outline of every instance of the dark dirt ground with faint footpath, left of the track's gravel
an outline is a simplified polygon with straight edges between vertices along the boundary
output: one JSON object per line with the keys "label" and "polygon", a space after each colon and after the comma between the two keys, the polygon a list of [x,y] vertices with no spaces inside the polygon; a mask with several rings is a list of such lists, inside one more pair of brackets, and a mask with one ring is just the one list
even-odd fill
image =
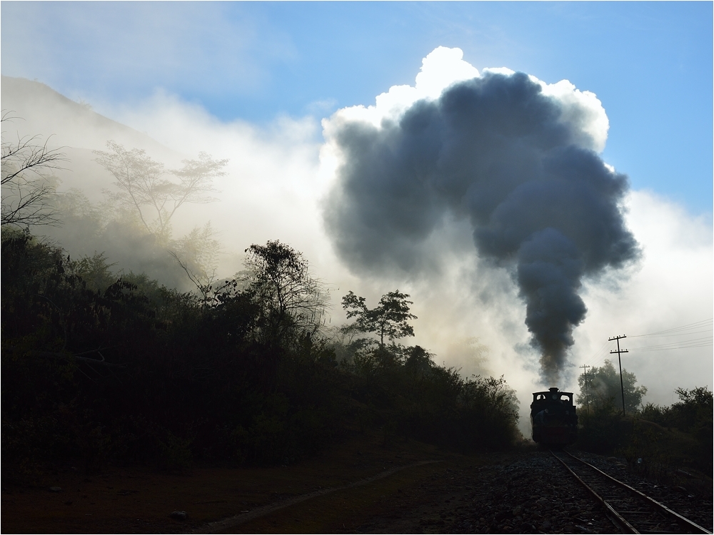
{"label": "dark dirt ground with faint footpath, left of the track's gravel", "polygon": [[[3,533],[422,533],[444,531],[478,469],[512,454],[463,456],[415,441],[357,437],[289,467],[59,467],[2,486]],[[456,477],[458,474],[458,477]],[[61,490],[57,490],[57,488]],[[51,490],[53,489],[53,490]],[[186,511],[185,520],[169,517]]]}

